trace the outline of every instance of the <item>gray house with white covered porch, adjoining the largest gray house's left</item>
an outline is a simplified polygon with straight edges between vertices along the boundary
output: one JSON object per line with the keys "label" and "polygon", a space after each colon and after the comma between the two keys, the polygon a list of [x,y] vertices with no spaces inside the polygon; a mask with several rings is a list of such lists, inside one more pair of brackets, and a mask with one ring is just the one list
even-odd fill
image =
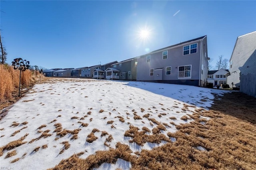
{"label": "gray house with white covered porch, adjoining the largest gray house's left", "polygon": [[137,58],[126,59],[111,65],[105,70],[106,79],[136,81]]}

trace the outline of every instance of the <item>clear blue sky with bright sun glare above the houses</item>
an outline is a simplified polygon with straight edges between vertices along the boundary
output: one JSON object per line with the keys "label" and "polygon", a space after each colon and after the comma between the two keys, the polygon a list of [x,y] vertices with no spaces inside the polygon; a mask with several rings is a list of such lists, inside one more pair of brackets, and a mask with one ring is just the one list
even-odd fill
{"label": "clear blue sky with bright sun glare above the houses", "polygon": [[[256,1],[1,1],[7,62],[77,68],[122,61],[207,35],[208,57],[230,59],[256,30]],[[140,30],[150,31],[140,38]]]}

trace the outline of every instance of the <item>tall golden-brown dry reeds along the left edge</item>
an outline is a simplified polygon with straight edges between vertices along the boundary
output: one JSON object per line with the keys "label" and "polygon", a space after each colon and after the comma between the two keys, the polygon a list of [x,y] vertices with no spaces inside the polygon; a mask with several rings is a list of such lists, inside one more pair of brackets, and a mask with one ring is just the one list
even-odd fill
{"label": "tall golden-brown dry reeds along the left edge", "polygon": [[[21,73],[21,85],[29,85],[31,71]],[[0,65],[0,102],[12,97],[12,92],[19,87],[20,70],[14,70],[10,65]]]}

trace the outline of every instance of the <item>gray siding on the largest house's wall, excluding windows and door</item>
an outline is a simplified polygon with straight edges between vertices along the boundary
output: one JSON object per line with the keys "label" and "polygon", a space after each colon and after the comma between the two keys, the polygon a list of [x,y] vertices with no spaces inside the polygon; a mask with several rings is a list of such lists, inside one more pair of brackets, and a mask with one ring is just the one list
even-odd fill
{"label": "gray siding on the largest house's wall, excluding windows and door", "polygon": [[[197,43],[197,53],[183,55],[183,46]],[[200,70],[200,40],[196,42],[184,43],[182,45],[172,47],[171,49],[163,49],[157,53],[150,55],[150,62],[146,62],[147,55],[138,57],[138,81],[153,81],[154,76],[150,76],[150,69],[164,68],[162,80],[199,80]],[[168,51],[168,58],[162,59],[162,52]],[[184,65],[192,65],[191,78],[178,79],[178,67]],[[172,67],[171,75],[166,75],[166,67]],[[207,67],[206,67],[207,68]],[[207,70],[207,69],[206,69]],[[207,71],[204,77],[207,77]],[[205,78],[206,79],[206,78]]]}

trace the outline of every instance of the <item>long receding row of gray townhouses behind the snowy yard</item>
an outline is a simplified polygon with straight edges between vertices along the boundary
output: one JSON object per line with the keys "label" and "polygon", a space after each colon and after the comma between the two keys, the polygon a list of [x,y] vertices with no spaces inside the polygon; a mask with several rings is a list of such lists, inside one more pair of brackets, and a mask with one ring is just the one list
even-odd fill
{"label": "long receding row of gray townhouses behind the snowy yard", "polygon": [[164,47],[145,55],[91,67],[50,69],[51,77],[148,81],[204,86],[207,81],[207,36]]}

